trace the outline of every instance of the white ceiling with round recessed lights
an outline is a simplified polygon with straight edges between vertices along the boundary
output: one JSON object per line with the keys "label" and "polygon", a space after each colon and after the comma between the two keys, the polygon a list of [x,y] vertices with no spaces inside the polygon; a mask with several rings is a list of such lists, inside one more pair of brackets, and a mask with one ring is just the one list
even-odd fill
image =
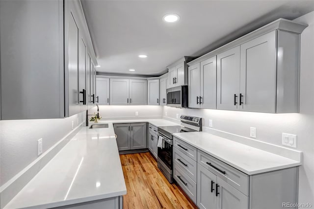
{"label": "white ceiling with round recessed lights", "polygon": [[[137,75],[160,75],[183,56],[200,56],[273,20],[314,10],[313,0],[81,2],[101,65],[97,71]],[[167,13],[179,14],[180,21],[163,22]]]}

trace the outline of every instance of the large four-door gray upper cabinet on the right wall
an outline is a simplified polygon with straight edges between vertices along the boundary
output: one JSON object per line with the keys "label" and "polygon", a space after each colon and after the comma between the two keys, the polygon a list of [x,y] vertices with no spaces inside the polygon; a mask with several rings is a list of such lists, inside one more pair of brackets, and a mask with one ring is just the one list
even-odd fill
{"label": "large four-door gray upper cabinet on the right wall", "polygon": [[189,62],[189,107],[298,112],[300,33],[306,27],[278,19]]}

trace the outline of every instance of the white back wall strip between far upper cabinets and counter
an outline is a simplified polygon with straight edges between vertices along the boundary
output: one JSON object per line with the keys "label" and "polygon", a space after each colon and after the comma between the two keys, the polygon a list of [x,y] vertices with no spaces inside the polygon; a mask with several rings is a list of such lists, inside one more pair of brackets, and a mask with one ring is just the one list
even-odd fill
{"label": "white back wall strip between far upper cabinets and counter", "polygon": [[[99,112],[102,120],[161,118],[162,106],[155,105],[101,105]],[[95,108],[93,109],[95,110]],[[97,109],[96,109],[97,110]],[[135,111],[138,116],[135,117]],[[96,113],[96,111],[94,111]],[[90,111],[93,114],[93,111]]]}

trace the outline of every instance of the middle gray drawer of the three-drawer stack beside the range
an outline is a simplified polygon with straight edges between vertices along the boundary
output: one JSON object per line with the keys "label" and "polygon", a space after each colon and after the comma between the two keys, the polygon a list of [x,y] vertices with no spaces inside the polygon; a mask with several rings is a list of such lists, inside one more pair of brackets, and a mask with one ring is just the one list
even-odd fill
{"label": "middle gray drawer of the three-drawer stack beside the range", "polygon": [[176,163],[194,182],[197,176],[197,162],[187,157],[177,148],[173,149],[173,163]]}

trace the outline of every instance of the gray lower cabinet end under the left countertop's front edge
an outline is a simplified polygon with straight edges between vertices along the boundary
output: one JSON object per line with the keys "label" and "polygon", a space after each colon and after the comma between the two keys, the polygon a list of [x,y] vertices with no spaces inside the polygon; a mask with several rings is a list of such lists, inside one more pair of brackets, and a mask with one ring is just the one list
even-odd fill
{"label": "gray lower cabinet end under the left countertop's front edge", "polygon": [[56,207],[54,209],[123,209],[123,196]]}

